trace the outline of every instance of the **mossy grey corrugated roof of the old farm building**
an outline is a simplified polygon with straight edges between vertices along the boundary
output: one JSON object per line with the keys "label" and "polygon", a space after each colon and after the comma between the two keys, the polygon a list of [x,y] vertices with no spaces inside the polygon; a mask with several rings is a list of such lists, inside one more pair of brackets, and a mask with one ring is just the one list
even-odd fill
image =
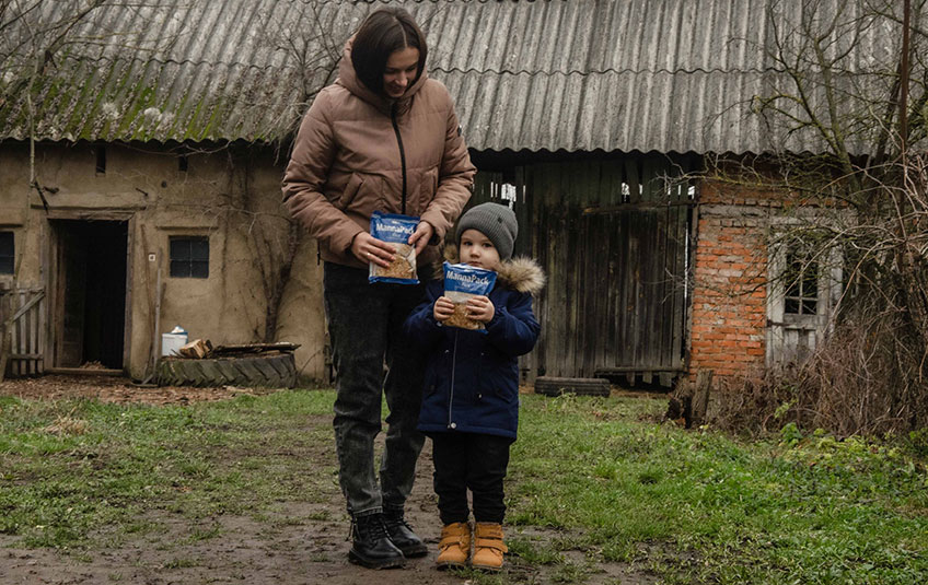
{"label": "mossy grey corrugated roof of the old farm building", "polygon": [[[802,11],[801,0],[781,0],[781,14],[770,21],[774,1],[107,5],[74,30],[76,42],[55,61],[57,74],[34,94],[36,136],[286,139],[312,95],[333,80],[345,38],[370,10],[391,3],[409,9],[427,32],[430,74],[449,86],[468,145],[477,150],[767,151],[779,144],[778,134],[750,104],[778,83],[788,85],[765,47],[775,37],[794,40],[774,33]],[[837,14],[840,1],[819,3]],[[44,21],[60,19],[60,7],[45,1]],[[897,25],[859,22],[860,43],[845,63],[855,77],[892,61],[900,38]],[[849,38],[835,38],[827,50],[840,50]],[[4,79],[9,89],[13,78]],[[0,136],[25,139],[28,126],[24,98],[0,104]],[[821,144],[799,132],[788,147]]]}

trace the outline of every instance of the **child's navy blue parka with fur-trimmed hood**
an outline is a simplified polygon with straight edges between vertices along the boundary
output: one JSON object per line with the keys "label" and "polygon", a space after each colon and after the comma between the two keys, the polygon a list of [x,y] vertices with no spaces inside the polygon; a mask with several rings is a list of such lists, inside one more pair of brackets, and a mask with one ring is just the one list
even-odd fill
{"label": "child's navy blue parka with fur-trimmed hood", "polygon": [[[450,257],[456,261],[456,250]],[[444,282],[432,281],[427,299],[409,315],[405,332],[425,353],[426,378],[419,430],[480,433],[515,438],[519,428],[519,355],[529,353],[541,326],[532,295],[544,286],[529,258],[503,260],[488,295],[495,314],[486,332],[440,325],[432,313]]]}

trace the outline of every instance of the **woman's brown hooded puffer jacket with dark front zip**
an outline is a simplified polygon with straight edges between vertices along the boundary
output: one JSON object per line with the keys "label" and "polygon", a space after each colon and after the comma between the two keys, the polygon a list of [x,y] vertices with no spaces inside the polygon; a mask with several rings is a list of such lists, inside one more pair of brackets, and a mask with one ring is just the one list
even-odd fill
{"label": "woman's brown hooded puffer jacket with dark front zip", "polygon": [[[419,217],[440,241],[471,197],[476,168],[443,84],[422,74],[398,101],[375,95],[355,73],[350,49],[341,78],[303,116],[282,194],[323,260],[367,269],[351,242],[374,211]],[[440,258],[430,245],[419,264]]]}

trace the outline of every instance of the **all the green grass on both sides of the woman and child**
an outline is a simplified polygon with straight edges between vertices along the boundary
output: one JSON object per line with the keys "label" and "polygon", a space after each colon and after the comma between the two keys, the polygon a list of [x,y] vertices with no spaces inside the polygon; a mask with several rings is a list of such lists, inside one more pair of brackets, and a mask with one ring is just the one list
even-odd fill
{"label": "all the green grass on both sides of the woman and child", "polygon": [[[187,541],[220,537],[211,518],[222,515],[267,518],[269,528],[302,522],[270,513],[340,498],[334,456],[304,456],[330,448],[329,425],[308,420],[328,417],[333,399],[281,391],[144,407],[0,397],[0,534],[92,554],[162,529],[152,511],[183,517]],[[659,424],[664,406],[523,397],[507,483],[510,569],[462,576],[531,583],[544,570],[553,583],[608,583],[603,572],[625,568],[670,584],[928,582],[924,443],[838,442],[794,428],[742,441]],[[173,565],[186,566],[177,554]]]}

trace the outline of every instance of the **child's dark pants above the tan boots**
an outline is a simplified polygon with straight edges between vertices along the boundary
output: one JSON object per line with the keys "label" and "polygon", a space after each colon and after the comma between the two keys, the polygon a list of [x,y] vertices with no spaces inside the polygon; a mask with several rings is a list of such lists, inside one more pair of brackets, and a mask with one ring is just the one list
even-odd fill
{"label": "child's dark pants above the tan boots", "polygon": [[502,480],[512,443],[507,436],[485,434],[432,435],[434,491],[442,524],[468,520],[468,489],[474,500],[474,520],[502,523],[506,515]]}

